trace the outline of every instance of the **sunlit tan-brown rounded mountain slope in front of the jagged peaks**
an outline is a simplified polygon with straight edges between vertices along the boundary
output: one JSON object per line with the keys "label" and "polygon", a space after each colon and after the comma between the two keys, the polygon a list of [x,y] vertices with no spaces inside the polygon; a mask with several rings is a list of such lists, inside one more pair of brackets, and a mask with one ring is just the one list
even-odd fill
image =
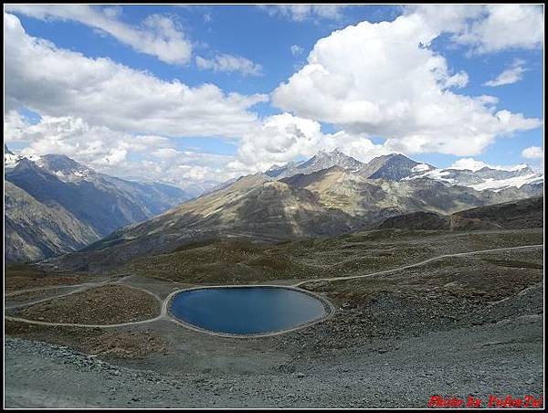
{"label": "sunlit tan-brown rounded mountain slope in front of the jagged peaks", "polygon": [[321,203],[306,189],[272,181],[263,174],[153,217],[121,228],[78,254],[49,262],[73,270],[98,271],[142,255],[153,255],[211,238],[288,238],[331,236],[361,228],[363,223]]}

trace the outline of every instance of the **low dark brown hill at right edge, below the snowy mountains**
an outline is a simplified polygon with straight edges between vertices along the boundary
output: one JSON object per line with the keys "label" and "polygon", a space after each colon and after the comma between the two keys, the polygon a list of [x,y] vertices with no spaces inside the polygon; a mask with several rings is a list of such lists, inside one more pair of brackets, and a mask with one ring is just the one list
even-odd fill
{"label": "low dark brown hill at right edge, below the snowy mountains", "polygon": [[389,217],[378,228],[448,230],[543,228],[543,214],[543,197],[536,196],[490,206],[479,206],[445,216],[419,211]]}

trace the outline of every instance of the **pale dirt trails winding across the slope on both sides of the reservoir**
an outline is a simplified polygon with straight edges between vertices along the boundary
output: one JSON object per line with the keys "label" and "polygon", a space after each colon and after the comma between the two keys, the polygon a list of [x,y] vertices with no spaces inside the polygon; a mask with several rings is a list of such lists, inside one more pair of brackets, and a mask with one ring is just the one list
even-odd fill
{"label": "pale dirt trails winding across the slope on both sides of the reservoir", "polygon": [[[446,258],[450,258],[450,257],[463,257],[463,256],[467,256],[467,255],[475,255],[475,254],[482,254],[482,253],[489,253],[489,252],[509,251],[509,250],[513,250],[513,249],[534,249],[534,248],[543,248],[543,247],[544,247],[543,244],[532,244],[532,245],[523,245],[521,247],[506,247],[506,248],[500,248],[500,249],[479,249],[479,250],[476,250],[476,251],[457,252],[457,253],[454,253],[454,254],[444,254],[444,255],[438,255],[437,257],[432,257],[430,259],[425,259],[425,260],[422,260],[420,262],[416,262],[414,264],[409,264],[409,265],[405,265],[403,267],[397,267],[397,268],[390,269],[390,270],[382,270],[382,271],[371,272],[369,274],[352,275],[352,276],[348,276],[348,277],[331,277],[331,278],[310,279],[310,280],[300,281],[296,284],[290,285],[290,287],[299,288],[301,285],[307,284],[309,282],[315,282],[315,281],[329,282],[329,281],[357,280],[357,279],[362,279],[362,278],[373,277],[375,275],[384,275],[384,274],[389,274],[389,273],[400,271],[400,270],[406,270],[406,269],[410,269],[410,268],[420,267],[420,266],[425,265],[429,262],[436,261],[437,259],[446,259]],[[56,296],[53,296],[53,297],[48,297],[46,299],[37,300],[35,302],[25,302],[23,304],[14,304],[14,305],[11,305],[11,306],[5,306],[5,309],[10,310],[10,309],[15,309],[15,308],[20,308],[20,307],[25,307],[25,306],[28,306],[28,305],[36,304],[38,302],[45,302],[45,301],[53,300],[53,299],[56,299],[56,298],[59,298],[59,297],[65,297],[65,296],[70,295],[70,294],[74,294],[74,293],[77,293],[77,292],[80,292],[80,291],[86,291],[86,290],[89,290],[90,288],[98,287],[98,286],[102,286],[102,285],[107,285],[109,283],[111,283],[111,284],[121,284],[121,281],[124,281],[125,279],[127,279],[129,277],[132,277],[132,275],[128,275],[128,276],[122,277],[120,279],[109,279],[109,280],[100,281],[100,282],[87,282],[87,283],[78,284],[78,285],[59,285],[59,286],[55,286],[55,288],[65,288],[65,287],[80,287],[80,288],[77,288],[75,291],[69,291],[68,293],[59,294],[59,295],[56,295]],[[115,281],[113,281],[113,280],[115,280]],[[111,281],[113,281],[113,282],[111,282]],[[133,286],[127,285],[127,284],[121,284],[121,285],[124,285],[128,288],[141,290],[141,291],[144,291],[144,292],[152,295],[158,302],[160,302],[160,314],[157,315],[156,317],[149,318],[149,319],[146,319],[146,320],[140,320],[140,321],[128,322],[128,323],[117,323],[117,324],[49,323],[49,322],[40,322],[40,321],[37,321],[37,320],[28,320],[26,318],[13,317],[11,315],[5,315],[4,318],[5,318],[5,320],[8,320],[8,321],[20,322],[20,323],[48,325],[48,326],[87,327],[87,328],[124,327],[124,326],[128,326],[128,325],[153,323],[153,322],[156,322],[156,321],[159,321],[159,320],[169,320],[169,319],[171,319],[171,317],[168,315],[168,304],[169,304],[170,299],[174,295],[174,293],[176,293],[177,291],[172,291],[170,294],[167,295],[167,297],[165,299],[162,300],[158,295],[154,294],[152,291],[148,291],[148,290],[143,289],[141,287],[133,287]],[[253,285],[254,286],[260,286],[260,284],[257,284],[257,285],[253,284]],[[224,287],[227,287],[227,286],[224,285]],[[40,289],[38,289],[38,290],[40,290]],[[29,291],[29,290],[26,290],[26,291]],[[34,291],[34,289],[30,289],[30,291]],[[24,291],[10,291],[10,292],[13,295],[17,292],[24,292]]]}

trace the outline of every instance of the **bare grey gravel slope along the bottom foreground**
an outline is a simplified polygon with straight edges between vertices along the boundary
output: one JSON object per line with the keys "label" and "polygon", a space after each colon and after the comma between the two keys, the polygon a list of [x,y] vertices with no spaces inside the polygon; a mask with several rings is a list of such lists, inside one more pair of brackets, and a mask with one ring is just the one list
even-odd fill
{"label": "bare grey gravel slope along the bottom foreground", "polygon": [[[236,352],[261,365],[260,353]],[[6,338],[5,407],[423,408],[433,395],[543,394],[541,316],[378,340],[258,371],[216,369],[228,356],[213,355],[205,373],[159,374]]]}

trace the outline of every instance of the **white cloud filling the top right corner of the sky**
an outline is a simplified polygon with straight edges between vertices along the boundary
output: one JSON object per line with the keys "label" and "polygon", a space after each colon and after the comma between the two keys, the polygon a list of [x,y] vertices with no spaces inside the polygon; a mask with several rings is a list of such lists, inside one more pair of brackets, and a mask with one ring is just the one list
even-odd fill
{"label": "white cloud filling the top right corner of the sky", "polygon": [[452,41],[469,46],[471,53],[543,46],[543,5],[408,5],[406,13],[452,33]]}

